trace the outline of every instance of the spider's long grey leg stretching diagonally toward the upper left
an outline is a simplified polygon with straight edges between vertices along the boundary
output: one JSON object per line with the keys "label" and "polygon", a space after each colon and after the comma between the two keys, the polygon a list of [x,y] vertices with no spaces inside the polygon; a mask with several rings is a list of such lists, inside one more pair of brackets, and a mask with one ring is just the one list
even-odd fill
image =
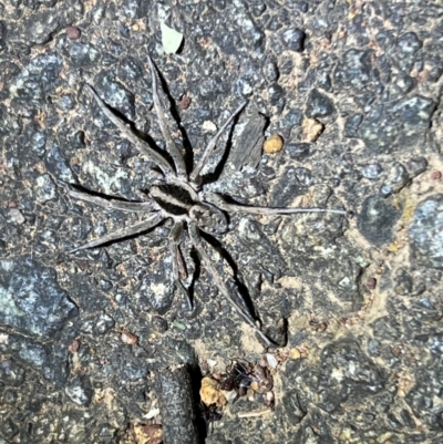
{"label": "spider's long grey leg stretching diagonally toward the upper left", "polygon": [[124,137],[135,145],[141,153],[145,154],[151,162],[156,164],[163,171],[163,173],[174,174],[169,163],[159,153],[154,151],[146,142],[133,134],[131,128],[128,128],[127,125],[104,104],[91,85],[86,83],[86,87],[95,99],[95,102],[99,104],[99,107],[103,114],[121,131]]}

